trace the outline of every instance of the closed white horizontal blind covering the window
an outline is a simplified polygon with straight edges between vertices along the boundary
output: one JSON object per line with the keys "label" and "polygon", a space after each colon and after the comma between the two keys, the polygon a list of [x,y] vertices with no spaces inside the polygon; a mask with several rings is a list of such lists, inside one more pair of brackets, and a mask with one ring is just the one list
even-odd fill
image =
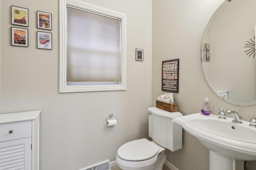
{"label": "closed white horizontal blind covering the window", "polygon": [[121,81],[120,22],[67,6],[67,83]]}

